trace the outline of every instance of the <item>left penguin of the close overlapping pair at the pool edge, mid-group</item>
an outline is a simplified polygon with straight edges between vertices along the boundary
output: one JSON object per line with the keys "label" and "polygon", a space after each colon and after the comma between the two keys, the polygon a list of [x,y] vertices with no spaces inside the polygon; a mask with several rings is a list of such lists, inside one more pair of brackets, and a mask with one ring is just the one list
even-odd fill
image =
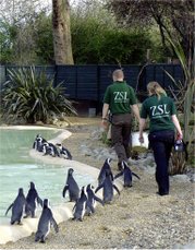
{"label": "left penguin of the close overlapping pair at the pool edge, mid-group", "polygon": [[82,187],[82,192],[80,199],[76,201],[73,207],[73,221],[83,222],[83,217],[85,215],[87,207],[87,192],[86,187]]}

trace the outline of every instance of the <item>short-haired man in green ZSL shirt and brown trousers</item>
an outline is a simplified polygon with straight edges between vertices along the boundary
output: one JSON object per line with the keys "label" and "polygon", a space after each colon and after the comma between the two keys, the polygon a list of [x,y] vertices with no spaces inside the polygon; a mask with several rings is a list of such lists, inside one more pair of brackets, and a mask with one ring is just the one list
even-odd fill
{"label": "short-haired man in green ZSL shirt and brown trousers", "polygon": [[139,110],[133,88],[124,81],[122,70],[112,73],[113,83],[106,90],[102,107],[102,126],[107,127],[108,111],[111,114],[111,141],[118,155],[118,169],[122,160],[130,157],[132,115],[139,121]]}

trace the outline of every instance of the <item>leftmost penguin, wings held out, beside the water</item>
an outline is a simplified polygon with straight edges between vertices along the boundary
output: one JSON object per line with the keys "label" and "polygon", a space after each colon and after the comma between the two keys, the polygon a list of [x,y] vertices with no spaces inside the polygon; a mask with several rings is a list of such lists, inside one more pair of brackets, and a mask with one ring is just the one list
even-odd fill
{"label": "leftmost penguin, wings held out, beside the water", "polygon": [[25,205],[26,205],[26,199],[24,197],[23,188],[20,188],[16,199],[8,207],[5,212],[5,215],[7,215],[9,210],[12,207],[12,216],[11,216],[11,222],[10,222],[11,225],[13,225],[16,222],[19,225],[22,225],[21,219],[23,217]]}

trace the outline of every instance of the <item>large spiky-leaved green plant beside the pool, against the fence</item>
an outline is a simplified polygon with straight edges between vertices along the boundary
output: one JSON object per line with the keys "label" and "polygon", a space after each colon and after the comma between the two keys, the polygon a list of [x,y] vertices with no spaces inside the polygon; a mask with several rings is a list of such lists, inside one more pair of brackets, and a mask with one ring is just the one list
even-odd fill
{"label": "large spiky-leaved green plant beside the pool, against the fence", "polygon": [[47,79],[45,72],[36,73],[35,68],[21,68],[9,71],[9,79],[1,92],[1,112],[7,122],[23,118],[26,122],[48,122],[62,112],[76,110],[64,97],[62,83],[53,86],[53,78]]}

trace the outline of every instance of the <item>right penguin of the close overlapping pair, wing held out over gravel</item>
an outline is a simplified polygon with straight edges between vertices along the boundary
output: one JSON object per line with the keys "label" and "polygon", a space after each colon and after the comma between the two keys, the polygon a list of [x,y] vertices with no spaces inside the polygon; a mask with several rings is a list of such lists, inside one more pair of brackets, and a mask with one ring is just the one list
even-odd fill
{"label": "right penguin of the close overlapping pair, wing held out over gravel", "polygon": [[95,213],[95,206],[96,201],[99,202],[101,205],[105,205],[103,201],[96,197],[94,192],[94,187],[92,184],[87,186],[87,207],[86,207],[86,214],[90,215],[92,213]]}

